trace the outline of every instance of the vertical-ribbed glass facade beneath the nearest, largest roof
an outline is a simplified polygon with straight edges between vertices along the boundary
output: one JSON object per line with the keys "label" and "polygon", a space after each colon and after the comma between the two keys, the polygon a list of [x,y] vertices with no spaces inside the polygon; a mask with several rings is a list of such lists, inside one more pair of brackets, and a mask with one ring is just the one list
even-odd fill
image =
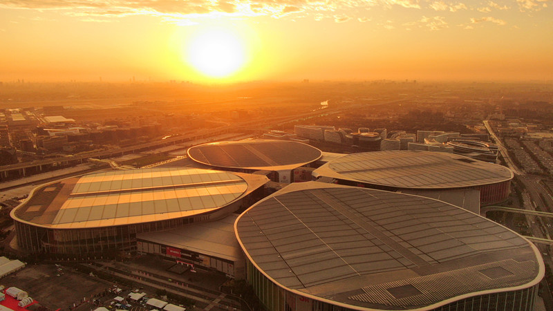
{"label": "vertical-ribbed glass facade beneath the nearest, largest roof", "polygon": [[[270,311],[346,311],[352,310],[324,301],[301,296],[274,284],[246,259],[246,278],[257,297]],[[532,311],[538,294],[538,284],[522,290],[482,294],[460,299],[434,311]],[[386,310],[386,309],[382,309]],[[393,309],[389,309],[393,310]]]}

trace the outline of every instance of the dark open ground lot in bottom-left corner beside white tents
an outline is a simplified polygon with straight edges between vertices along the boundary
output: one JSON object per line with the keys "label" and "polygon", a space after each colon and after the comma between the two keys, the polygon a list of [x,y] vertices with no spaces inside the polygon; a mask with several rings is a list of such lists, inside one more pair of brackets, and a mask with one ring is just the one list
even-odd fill
{"label": "dark open ground lot in bottom-left corner beside white tents", "polygon": [[[111,283],[76,272],[70,267],[57,270],[54,264],[28,265],[15,275],[6,276],[0,283],[6,288],[15,286],[51,310],[69,310],[84,297],[104,292]],[[62,272],[62,273],[60,273]],[[59,274],[59,276],[57,276]]]}

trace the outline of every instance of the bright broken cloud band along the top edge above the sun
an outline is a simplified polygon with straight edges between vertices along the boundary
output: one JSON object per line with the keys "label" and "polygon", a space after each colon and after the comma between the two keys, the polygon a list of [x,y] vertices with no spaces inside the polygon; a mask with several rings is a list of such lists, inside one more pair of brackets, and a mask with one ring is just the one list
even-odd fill
{"label": "bright broken cloud band along the top edge above the sun", "polygon": [[[150,15],[175,22],[207,14],[281,18],[297,12],[304,12],[306,14],[302,16],[310,16],[315,20],[325,17],[335,19],[339,11],[393,4],[413,7],[418,6],[418,0],[1,0],[0,8],[38,12],[56,10],[81,20],[89,17],[86,21],[93,21],[97,17],[106,17],[101,20],[109,21],[107,17],[115,20],[117,17]],[[335,20],[343,22],[344,17]]]}

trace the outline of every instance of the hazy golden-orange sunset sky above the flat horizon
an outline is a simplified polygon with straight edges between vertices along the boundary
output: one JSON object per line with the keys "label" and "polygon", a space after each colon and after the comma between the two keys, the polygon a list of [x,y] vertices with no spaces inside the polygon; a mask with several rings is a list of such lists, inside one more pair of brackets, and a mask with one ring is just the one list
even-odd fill
{"label": "hazy golden-orange sunset sky above the flat horizon", "polygon": [[0,43],[6,82],[551,81],[553,0],[1,0]]}

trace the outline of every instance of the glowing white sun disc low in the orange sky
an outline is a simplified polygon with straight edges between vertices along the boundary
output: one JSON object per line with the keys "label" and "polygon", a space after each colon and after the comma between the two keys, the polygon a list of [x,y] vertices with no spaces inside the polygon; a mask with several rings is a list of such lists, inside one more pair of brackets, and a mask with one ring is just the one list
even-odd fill
{"label": "glowing white sun disc low in the orange sky", "polygon": [[245,64],[241,39],[225,29],[197,32],[187,44],[188,62],[209,77],[228,77]]}

